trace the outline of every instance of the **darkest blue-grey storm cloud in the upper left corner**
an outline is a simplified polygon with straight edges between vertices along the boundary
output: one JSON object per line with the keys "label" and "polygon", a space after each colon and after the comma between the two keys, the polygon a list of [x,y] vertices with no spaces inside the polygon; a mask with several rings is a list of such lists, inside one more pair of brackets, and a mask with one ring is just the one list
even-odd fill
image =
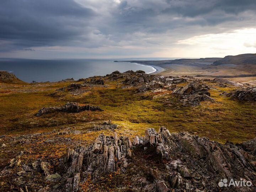
{"label": "darkest blue-grey storm cloud in the upper left corner", "polygon": [[11,40],[10,48],[65,44],[86,33],[94,15],[70,0],[2,0],[0,39]]}

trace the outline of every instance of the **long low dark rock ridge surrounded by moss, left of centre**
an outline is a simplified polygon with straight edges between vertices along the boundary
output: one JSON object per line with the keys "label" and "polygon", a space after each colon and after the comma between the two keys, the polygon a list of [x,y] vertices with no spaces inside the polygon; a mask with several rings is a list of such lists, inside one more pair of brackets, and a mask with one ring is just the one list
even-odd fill
{"label": "long low dark rock ridge surrounded by moss, left of centre", "polygon": [[74,102],[67,102],[66,105],[62,107],[43,107],[38,111],[37,117],[42,116],[43,114],[53,113],[53,112],[67,112],[67,113],[79,113],[81,111],[103,111],[98,106],[92,105],[82,105]]}

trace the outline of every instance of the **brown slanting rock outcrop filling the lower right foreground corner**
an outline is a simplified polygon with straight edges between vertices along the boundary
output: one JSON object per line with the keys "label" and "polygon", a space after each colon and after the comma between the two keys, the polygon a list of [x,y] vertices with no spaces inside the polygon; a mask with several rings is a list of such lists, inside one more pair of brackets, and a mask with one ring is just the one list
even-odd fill
{"label": "brown slanting rock outcrop filling the lower right foreground corner", "polygon": [[[154,170],[152,174],[156,191],[216,191],[221,189],[218,183],[224,178],[252,183],[251,187],[231,186],[225,191],[256,190],[255,139],[241,147],[232,143],[222,145],[188,133],[170,133],[161,127],[158,133],[154,129],[146,130],[143,143],[138,140],[138,137],[134,139],[139,143],[137,146],[147,146],[151,154],[154,149],[165,159],[166,169]],[[252,147],[248,148],[250,145]]]}

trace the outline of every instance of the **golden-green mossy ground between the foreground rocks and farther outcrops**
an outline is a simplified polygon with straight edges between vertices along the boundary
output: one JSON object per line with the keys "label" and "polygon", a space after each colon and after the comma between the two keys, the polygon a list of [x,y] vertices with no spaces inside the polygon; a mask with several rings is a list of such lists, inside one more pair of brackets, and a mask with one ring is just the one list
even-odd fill
{"label": "golden-green mossy ground between the foreground rocks and farther outcrops", "polygon": [[[166,126],[171,132],[187,131],[222,143],[226,140],[242,142],[256,135],[256,119],[252,118],[256,113],[255,103],[239,102],[219,95],[233,88],[216,87],[219,90],[210,90],[215,101],[202,102],[196,107],[183,107],[170,91],[138,94],[134,88],[118,88],[121,86],[115,81],[107,81],[109,87],[88,87],[87,92],[78,96],[68,91],[57,91],[61,97],[51,96],[53,92],[56,93],[56,88],[68,84],[71,82],[46,84],[36,88],[36,92],[1,93],[0,121],[4,122],[0,125],[2,132],[16,133],[19,130],[23,133],[28,129],[41,131],[112,119],[122,124],[130,135],[144,134],[146,128],[160,126]],[[22,86],[15,86],[15,89],[22,89]],[[26,89],[31,89],[29,86],[32,85]],[[104,111],[53,113],[39,118],[35,116],[42,107],[63,105],[67,101],[98,105]]]}

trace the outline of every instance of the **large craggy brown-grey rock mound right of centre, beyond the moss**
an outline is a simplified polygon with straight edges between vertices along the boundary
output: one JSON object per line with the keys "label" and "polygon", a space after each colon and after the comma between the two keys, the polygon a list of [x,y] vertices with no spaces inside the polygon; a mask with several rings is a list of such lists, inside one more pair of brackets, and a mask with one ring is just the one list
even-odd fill
{"label": "large craggy brown-grey rock mound right of centre, beyond the moss", "polygon": [[214,100],[208,91],[210,87],[201,82],[192,81],[184,87],[176,88],[172,93],[180,95],[185,105],[199,105],[201,101]]}

